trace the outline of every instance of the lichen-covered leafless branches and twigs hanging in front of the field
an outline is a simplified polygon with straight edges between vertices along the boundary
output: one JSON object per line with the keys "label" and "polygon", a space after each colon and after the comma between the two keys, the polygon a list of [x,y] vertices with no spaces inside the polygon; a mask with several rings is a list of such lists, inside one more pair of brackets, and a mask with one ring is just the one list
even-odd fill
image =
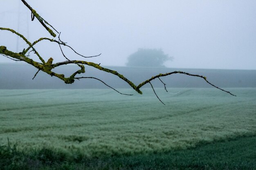
{"label": "lichen-covered leafless branches and twigs hanging in front of the field", "polygon": [[[38,13],[36,13],[36,11],[34,9],[32,9],[29,4],[27,4],[27,2],[25,0],[21,0],[32,12],[32,14],[34,16],[33,17],[36,17],[39,22],[45,27],[45,29],[47,29],[47,31],[54,37],[56,37],[56,34],[53,33],[53,31],[51,29],[49,29],[49,27],[47,27],[45,24],[48,24],[49,26],[51,26],[47,21],[45,21],[42,17],[40,17],[40,15],[38,15]],[[51,26],[52,27],[52,26]],[[52,27],[53,28],[53,27]],[[53,28],[54,29],[54,28]],[[195,76],[195,77],[200,77],[200,78],[203,78],[208,84],[210,84],[211,86],[215,87],[215,88],[218,88],[226,93],[229,93],[230,95],[233,95],[231,94],[229,91],[225,91],[223,90],[222,88],[219,88],[213,84],[211,84],[210,82],[208,82],[208,80],[206,79],[206,77],[203,77],[202,75],[194,75],[194,74],[190,74],[190,73],[186,73],[186,72],[182,72],[182,71],[174,71],[174,72],[170,72],[170,73],[165,73],[165,74],[159,74],[159,75],[156,75],[154,77],[151,77],[150,79],[144,81],[144,82],[141,82],[141,84],[139,84],[138,86],[136,86],[134,83],[132,83],[130,80],[128,80],[126,77],[124,77],[123,75],[119,74],[117,71],[113,71],[113,70],[110,70],[108,68],[103,68],[101,66],[99,66],[99,64],[95,64],[93,62],[86,62],[86,61],[79,61],[79,60],[69,60],[65,54],[63,53],[63,50],[61,48],[61,45],[63,46],[67,46],[65,42],[61,41],[60,39],[60,34],[59,33],[59,36],[58,36],[58,41],[56,40],[53,40],[53,39],[49,39],[49,38],[40,38],[39,40],[35,41],[33,44],[31,44],[23,35],[21,35],[20,33],[17,33],[16,31],[12,30],[12,29],[8,29],[8,28],[0,28],[0,30],[7,30],[7,31],[11,31],[12,33],[15,33],[16,35],[20,36],[20,38],[22,38],[25,42],[27,42],[27,44],[29,44],[29,48],[25,51],[22,51],[22,53],[14,53],[12,51],[8,51],[6,49],[5,46],[0,46],[1,47],[1,54],[4,54],[5,55],[8,55],[9,57],[12,57],[12,58],[16,58],[18,60],[15,60],[15,61],[20,61],[20,60],[23,60],[31,65],[33,65],[34,67],[38,68],[39,70],[41,71],[44,71],[45,73],[51,75],[51,76],[56,76],[60,79],[62,79],[65,83],[67,84],[72,84],[74,82],[74,79],[79,79],[79,78],[93,78],[93,79],[97,79],[95,77],[74,77],[76,74],[80,74],[80,73],[84,73],[85,70],[84,70],[84,65],[83,64],[86,64],[88,66],[93,66],[101,71],[105,71],[105,72],[108,72],[108,73],[111,73],[113,75],[117,75],[119,78],[123,79],[125,82],[127,82],[135,91],[137,91],[138,93],[142,94],[142,92],[139,90],[142,86],[144,86],[145,84],[149,83],[151,85],[151,87],[153,88],[152,84],[151,84],[151,81],[155,78],[159,78],[159,77],[164,77],[164,76],[167,76],[167,75],[171,75],[171,74],[176,74],[176,73],[180,73],[180,74],[185,74],[185,75],[189,75],[189,76]],[[55,29],[54,29],[55,30]],[[56,30],[55,30],[56,31]],[[58,32],[58,31],[56,31]],[[41,41],[41,40],[50,40],[52,42],[57,42],[59,44],[59,47],[61,49],[61,53],[63,54],[63,56],[68,60],[68,61],[64,61],[64,62],[58,62],[58,63],[55,63],[55,64],[52,64],[52,58],[50,58],[48,60],[47,63],[45,63],[45,61],[43,60],[42,57],[40,57],[40,55],[38,54],[38,52],[34,49],[34,45]],[[69,48],[72,49],[72,47],[68,46]],[[39,59],[43,62],[43,64],[41,63],[38,63],[38,62],[35,62],[34,60],[28,58],[25,56],[25,54],[27,53],[27,51],[32,48],[36,55],[38,55]],[[72,49],[74,51],[74,49]],[[76,53],[76,51],[74,51]],[[78,55],[80,55],[79,53],[76,53]],[[29,55],[29,54],[28,54]],[[83,55],[81,55],[83,56]],[[99,56],[99,55],[95,55],[95,56],[91,56],[91,57],[96,57],[96,56]],[[7,57],[7,56],[5,56]],[[7,58],[9,58],[7,57]],[[85,57],[85,56],[83,56]],[[11,59],[11,58],[10,58]],[[11,59],[11,60],[14,60],[14,59]],[[80,66],[81,70],[79,71],[76,71],[75,73],[73,73],[70,77],[65,77],[63,74],[57,74],[57,73],[54,73],[52,72],[52,68],[54,67],[57,67],[57,66],[61,66],[63,64],[77,64],[78,66]],[[38,72],[37,72],[38,73]],[[34,77],[36,77],[37,73],[35,74]],[[34,78],[33,78],[34,79]],[[105,84],[106,86],[108,86],[106,83],[104,83],[102,80],[100,79],[97,79],[99,81],[101,81],[103,84]],[[159,78],[159,80],[162,82],[162,80]],[[162,82],[164,84],[164,87],[165,87],[165,90],[166,90],[166,84],[164,82]],[[110,87],[110,86],[108,86]],[[112,87],[110,87],[112,88]],[[112,88],[114,89],[114,88]],[[114,89],[115,90],[115,89]],[[115,90],[117,91],[117,90]],[[155,93],[155,90],[153,88],[153,91]],[[167,91],[167,90],[166,90]],[[117,91],[118,93],[120,93],[119,91]],[[168,91],[167,91],[168,92]],[[123,94],[123,93],[120,93],[120,94]],[[123,94],[123,95],[127,95],[127,94]],[[157,94],[155,93],[155,95],[157,96]],[[233,96],[236,96],[236,95],[233,95]],[[159,97],[157,96],[157,98],[159,99]],[[160,102],[162,102],[160,99],[159,99]],[[163,102],[162,102],[163,103]],[[163,103],[164,104],[164,103]]]}

